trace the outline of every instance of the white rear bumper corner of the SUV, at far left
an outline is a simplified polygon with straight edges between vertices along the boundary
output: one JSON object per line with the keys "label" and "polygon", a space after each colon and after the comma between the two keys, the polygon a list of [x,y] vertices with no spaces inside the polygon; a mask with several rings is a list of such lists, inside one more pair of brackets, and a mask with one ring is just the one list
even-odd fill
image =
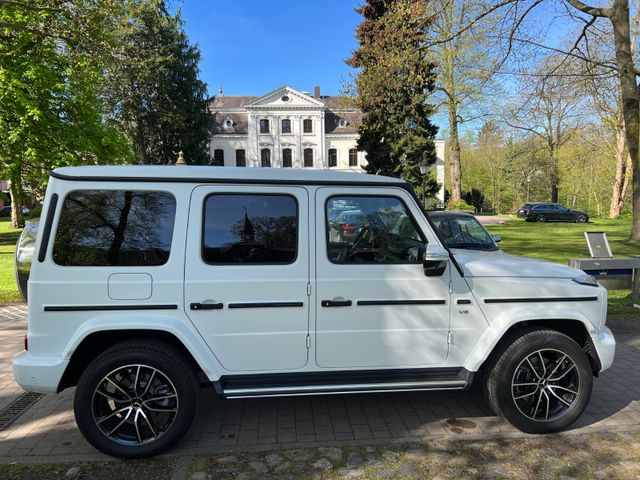
{"label": "white rear bumper corner of the SUV, at far left", "polygon": [[22,352],[13,360],[13,376],[28,392],[57,393],[68,363],[61,357]]}

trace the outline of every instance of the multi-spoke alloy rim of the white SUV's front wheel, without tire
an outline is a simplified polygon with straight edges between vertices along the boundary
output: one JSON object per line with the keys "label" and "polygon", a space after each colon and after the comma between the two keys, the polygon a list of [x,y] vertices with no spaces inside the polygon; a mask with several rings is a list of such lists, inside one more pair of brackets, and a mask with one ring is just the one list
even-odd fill
{"label": "multi-spoke alloy rim of the white SUV's front wheel, without tire", "polygon": [[537,350],[516,367],[511,397],[530,420],[548,422],[563,416],[575,403],[580,377],[573,359],[555,349]]}

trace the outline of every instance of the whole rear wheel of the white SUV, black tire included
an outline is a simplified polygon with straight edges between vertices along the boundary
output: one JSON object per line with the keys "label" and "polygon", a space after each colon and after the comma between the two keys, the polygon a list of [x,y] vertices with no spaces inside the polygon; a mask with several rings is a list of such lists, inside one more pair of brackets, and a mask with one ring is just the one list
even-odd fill
{"label": "whole rear wheel of the white SUV, black tire included", "polygon": [[193,366],[172,345],[122,342],[98,356],[80,377],[74,399],[76,423],[87,441],[107,455],[157,455],[187,432],[199,392]]}

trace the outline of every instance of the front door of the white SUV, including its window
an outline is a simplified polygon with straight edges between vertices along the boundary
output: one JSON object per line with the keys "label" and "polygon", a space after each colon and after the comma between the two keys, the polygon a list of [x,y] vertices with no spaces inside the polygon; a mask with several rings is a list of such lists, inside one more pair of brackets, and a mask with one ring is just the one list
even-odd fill
{"label": "front door of the white SUV, including its window", "polygon": [[[438,241],[413,198],[396,188],[319,188],[315,209],[318,365],[443,363],[451,267],[425,276],[424,245]],[[357,235],[340,234],[349,226],[334,210],[358,213]]]}

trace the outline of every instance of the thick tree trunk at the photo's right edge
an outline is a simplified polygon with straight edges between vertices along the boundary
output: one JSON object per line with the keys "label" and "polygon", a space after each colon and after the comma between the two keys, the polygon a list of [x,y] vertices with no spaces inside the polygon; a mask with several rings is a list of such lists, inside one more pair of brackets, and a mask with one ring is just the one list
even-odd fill
{"label": "thick tree trunk at the photo's right edge", "polygon": [[630,240],[640,242],[640,159],[638,158],[640,152],[640,103],[635,66],[631,55],[628,0],[614,0],[609,19],[613,26],[627,148],[633,167],[633,222]]}

